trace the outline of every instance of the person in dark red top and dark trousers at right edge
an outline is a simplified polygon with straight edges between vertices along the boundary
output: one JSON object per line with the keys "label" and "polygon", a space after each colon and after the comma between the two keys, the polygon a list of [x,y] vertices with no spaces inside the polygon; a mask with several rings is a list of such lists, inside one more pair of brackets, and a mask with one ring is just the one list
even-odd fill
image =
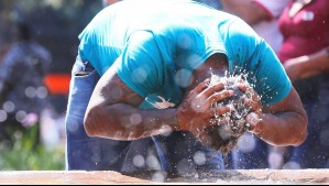
{"label": "person in dark red top and dark trousers at right edge", "polygon": [[329,167],[328,10],[328,0],[289,0],[279,18],[278,57],[309,117],[307,140],[290,147],[286,168]]}

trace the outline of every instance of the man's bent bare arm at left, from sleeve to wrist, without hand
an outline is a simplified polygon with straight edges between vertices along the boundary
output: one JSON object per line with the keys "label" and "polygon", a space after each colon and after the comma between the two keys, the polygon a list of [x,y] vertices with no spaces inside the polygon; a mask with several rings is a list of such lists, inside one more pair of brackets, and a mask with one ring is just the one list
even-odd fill
{"label": "man's bent bare arm at left, from sleeve to wrist, without hand", "polygon": [[164,125],[167,127],[163,128],[166,130],[178,129],[175,109],[162,110],[161,114],[156,110],[138,109],[143,100],[144,98],[127,87],[117,75],[107,73],[97,84],[86,111],[87,134],[135,140],[163,133],[161,129]]}

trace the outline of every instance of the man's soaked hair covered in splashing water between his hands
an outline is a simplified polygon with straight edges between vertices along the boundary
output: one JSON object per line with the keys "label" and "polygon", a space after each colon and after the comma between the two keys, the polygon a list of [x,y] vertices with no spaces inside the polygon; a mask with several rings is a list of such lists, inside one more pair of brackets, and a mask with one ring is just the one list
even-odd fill
{"label": "man's soaked hair covered in splashing water between his hands", "polygon": [[206,129],[212,138],[211,146],[221,151],[223,155],[227,155],[237,145],[239,138],[249,128],[245,118],[251,112],[251,108],[244,103],[244,98],[250,99],[252,95],[250,91],[242,91],[238,87],[242,81],[248,84],[246,76],[246,74],[235,76],[229,75],[229,73],[222,77],[211,75],[209,86],[223,83],[224,89],[234,91],[232,97],[212,103],[212,107],[229,106],[231,111],[224,114],[216,113],[211,121],[213,125]]}

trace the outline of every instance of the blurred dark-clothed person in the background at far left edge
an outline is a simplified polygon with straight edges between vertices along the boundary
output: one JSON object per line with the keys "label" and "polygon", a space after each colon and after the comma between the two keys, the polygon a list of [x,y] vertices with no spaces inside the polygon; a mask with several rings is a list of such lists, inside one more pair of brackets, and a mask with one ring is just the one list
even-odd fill
{"label": "blurred dark-clothed person in the background at far left edge", "polygon": [[43,83],[51,53],[33,40],[29,24],[14,25],[15,43],[0,63],[0,139],[9,145],[15,131],[28,131],[35,125],[39,143],[39,119],[47,106],[47,89]]}

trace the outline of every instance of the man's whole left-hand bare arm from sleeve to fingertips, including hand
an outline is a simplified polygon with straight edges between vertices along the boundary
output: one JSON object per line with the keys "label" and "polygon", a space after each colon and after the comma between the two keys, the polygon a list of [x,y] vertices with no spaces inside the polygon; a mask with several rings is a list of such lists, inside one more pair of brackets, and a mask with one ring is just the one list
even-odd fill
{"label": "man's whole left-hand bare arm from sleeve to fingertips, including hand", "polygon": [[226,107],[211,108],[211,103],[231,96],[231,92],[220,91],[223,85],[207,85],[205,80],[195,87],[177,109],[144,110],[138,108],[144,98],[132,91],[110,68],[97,84],[89,101],[85,116],[86,132],[90,136],[114,140],[135,140],[171,130],[197,134],[198,130],[211,124],[208,121],[213,113],[229,111]]}

